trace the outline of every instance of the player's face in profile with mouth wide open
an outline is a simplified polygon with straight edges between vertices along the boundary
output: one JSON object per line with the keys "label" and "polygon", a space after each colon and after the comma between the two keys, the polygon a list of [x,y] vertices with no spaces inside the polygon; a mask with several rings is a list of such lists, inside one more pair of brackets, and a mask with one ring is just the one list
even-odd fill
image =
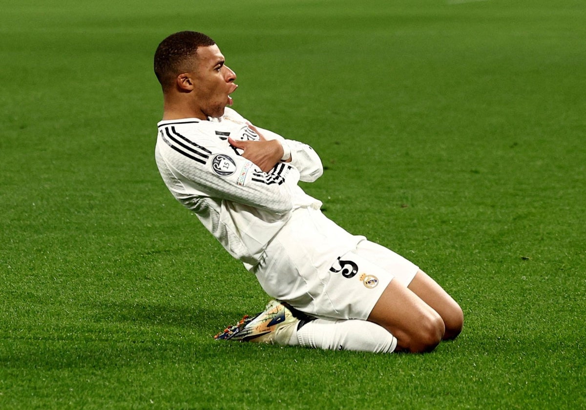
{"label": "player's face in profile with mouth wide open", "polygon": [[217,45],[197,49],[197,69],[191,73],[197,112],[206,117],[222,117],[226,105],[232,105],[230,94],[238,87],[236,73],[230,70]]}

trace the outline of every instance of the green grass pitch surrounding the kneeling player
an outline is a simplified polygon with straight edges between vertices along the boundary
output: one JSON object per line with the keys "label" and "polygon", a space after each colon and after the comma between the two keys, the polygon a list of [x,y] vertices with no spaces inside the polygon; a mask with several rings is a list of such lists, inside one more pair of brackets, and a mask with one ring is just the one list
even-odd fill
{"label": "green grass pitch surrounding the kneeling player", "polygon": [[[586,407],[586,4],[0,1],[0,408]],[[455,341],[212,339],[268,297],[163,185],[159,41],[203,31],[304,184],[416,262]]]}

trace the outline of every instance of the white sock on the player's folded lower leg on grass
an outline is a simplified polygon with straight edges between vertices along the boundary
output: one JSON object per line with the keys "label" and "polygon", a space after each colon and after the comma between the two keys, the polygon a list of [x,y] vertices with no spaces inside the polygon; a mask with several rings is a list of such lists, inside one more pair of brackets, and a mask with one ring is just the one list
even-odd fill
{"label": "white sock on the player's folded lower leg on grass", "polygon": [[397,339],[384,327],[367,320],[315,319],[293,332],[289,344],[328,350],[391,353]]}

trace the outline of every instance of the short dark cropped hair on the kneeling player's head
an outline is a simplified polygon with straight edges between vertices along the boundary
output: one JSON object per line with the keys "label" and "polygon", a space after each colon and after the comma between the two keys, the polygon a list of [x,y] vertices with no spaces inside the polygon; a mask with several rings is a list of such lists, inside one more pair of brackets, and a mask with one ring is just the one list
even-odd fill
{"label": "short dark cropped hair on the kneeling player's head", "polygon": [[182,31],[166,37],[156,47],[154,62],[155,75],[163,91],[172,86],[179,74],[195,69],[192,57],[196,55],[197,47],[214,44],[216,42],[210,37],[195,31]]}

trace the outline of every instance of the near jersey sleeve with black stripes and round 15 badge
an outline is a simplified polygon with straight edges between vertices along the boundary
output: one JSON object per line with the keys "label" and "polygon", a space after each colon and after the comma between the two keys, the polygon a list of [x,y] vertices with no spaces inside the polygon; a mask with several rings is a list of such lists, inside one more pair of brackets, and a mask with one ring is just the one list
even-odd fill
{"label": "near jersey sleeve with black stripes and round 15 badge", "polygon": [[172,126],[159,128],[157,145],[163,179],[183,202],[207,196],[277,214],[293,207],[300,174],[289,163],[278,163],[270,172],[263,172],[227,141],[197,131],[182,134]]}

